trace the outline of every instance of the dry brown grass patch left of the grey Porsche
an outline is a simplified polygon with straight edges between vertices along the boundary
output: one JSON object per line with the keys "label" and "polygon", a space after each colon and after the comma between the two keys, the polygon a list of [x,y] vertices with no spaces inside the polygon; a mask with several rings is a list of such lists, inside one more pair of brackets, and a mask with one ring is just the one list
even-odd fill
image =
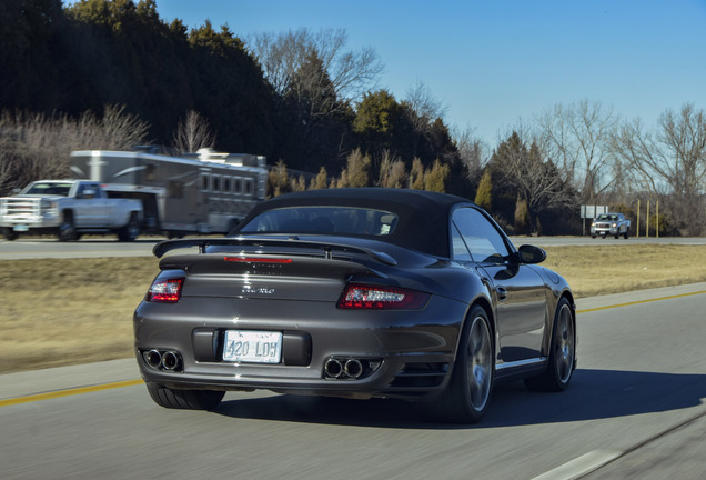
{"label": "dry brown grass patch left of the grey Porsche", "polygon": [[0,262],[0,372],[125,358],[153,258]]}

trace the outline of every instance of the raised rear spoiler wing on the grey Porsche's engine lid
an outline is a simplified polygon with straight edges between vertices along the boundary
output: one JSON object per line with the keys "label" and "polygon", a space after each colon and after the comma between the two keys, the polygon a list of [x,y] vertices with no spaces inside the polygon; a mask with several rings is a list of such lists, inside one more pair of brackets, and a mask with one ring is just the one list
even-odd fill
{"label": "raised rear spoiler wing on the grey Porsche's engine lid", "polygon": [[397,261],[385,252],[371,250],[364,247],[354,247],[345,243],[322,242],[314,240],[300,240],[296,236],[288,238],[263,238],[263,237],[233,237],[233,238],[209,238],[209,239],[183,239],[183,240],[165,240],[159,242],[152,249],[154,257],[162,258],[167,252],[183,249],[199,248],[199,253],[206,253],[209,247],[296,247],[319,249],[324,253],[324,258],[333,258],[332,252],[343,251],[353,253],[363,253],[372,259],[389,266],[396,266]]}

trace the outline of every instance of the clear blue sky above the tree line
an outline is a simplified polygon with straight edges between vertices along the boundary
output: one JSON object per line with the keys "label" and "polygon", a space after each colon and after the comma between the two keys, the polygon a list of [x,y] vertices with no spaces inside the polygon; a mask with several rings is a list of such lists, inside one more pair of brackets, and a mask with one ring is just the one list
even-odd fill
{"label": "clear blue sky above the tree line", "polygon": [[397,100],[417,82],[445,122],[491,147],[556,103],[599,101],[656,127],[665,109],[706,108],[706,0],[157,0],[165,21],[208,19],[239,37],[345,29],[373,47],[379,87]]}

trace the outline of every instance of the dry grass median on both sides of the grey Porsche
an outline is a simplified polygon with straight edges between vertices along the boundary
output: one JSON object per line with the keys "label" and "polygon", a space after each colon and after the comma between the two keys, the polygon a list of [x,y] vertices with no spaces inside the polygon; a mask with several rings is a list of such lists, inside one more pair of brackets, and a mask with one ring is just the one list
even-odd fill
{"label": "dry grass median on both sides of the grey Porsche", "polygon": [[[703,246],[551,247],[544,266],[577,297],[706,281]],[[0,373],[132,356],[148,257],[0,261]]]}

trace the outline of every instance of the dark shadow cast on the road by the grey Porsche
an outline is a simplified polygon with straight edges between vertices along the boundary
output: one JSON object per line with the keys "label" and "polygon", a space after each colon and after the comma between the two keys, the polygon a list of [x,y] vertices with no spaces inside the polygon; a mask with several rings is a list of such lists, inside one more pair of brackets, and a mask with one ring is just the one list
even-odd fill
{"label": "dark shadow cast on the road by the grey Porsche", "polygon": [[[394,429],[483,429],[617,418],[695,407],[706,398],[706,374],[576,370],[562,393],[528,391],[523,382],[500,384],[477,424],[430,421],[423,407],[401,400],[347,400],[270,396],[226,400],[224,417]],[[228,399],[228,397],[226,397]]]}

